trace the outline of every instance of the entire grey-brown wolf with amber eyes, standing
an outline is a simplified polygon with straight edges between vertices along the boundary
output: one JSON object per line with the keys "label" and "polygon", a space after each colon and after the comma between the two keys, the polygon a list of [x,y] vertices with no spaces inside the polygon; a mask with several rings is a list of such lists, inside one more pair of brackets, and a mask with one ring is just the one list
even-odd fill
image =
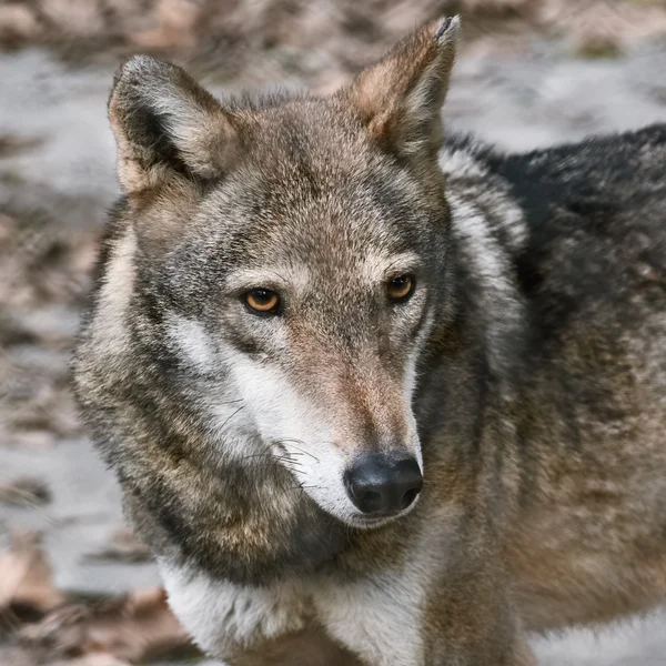
{"label": "entire grey-brown wolf with amber eyes, standing", "polygon": [[232,666],[527,666],[666,599],[666,125],[445,132],[460,20],[329,97],[138,56],[81,414]]}

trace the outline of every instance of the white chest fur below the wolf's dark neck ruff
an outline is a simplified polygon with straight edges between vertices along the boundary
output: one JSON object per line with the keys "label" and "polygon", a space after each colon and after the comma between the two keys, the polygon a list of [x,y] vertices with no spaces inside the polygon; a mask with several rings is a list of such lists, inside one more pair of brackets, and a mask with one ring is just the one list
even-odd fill
{"label": "white chest fur below the wolf's dark neck ruff", "polygon": [[243,645],[296,632],[319,620],[372,666],[421,662],[421,586],[403,576],[354,584],[317,578],[249,587],[160,563],[170,605],[209,654],[224,658]]}

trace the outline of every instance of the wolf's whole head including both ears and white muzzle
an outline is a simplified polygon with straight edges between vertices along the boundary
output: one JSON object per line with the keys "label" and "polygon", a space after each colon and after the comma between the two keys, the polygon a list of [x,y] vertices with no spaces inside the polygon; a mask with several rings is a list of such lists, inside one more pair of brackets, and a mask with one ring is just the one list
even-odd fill
{"label": "wolf's whole head including both ears and white muzzle", "polygon": [[457,28],[422,28],[327,98],[221,103],[147,57],[110,98],[114,261],[132,283],[102,290],[98,351],[120,344],[113,303],[131,301],[134,342],[171,360],[206,455],[270,455],[353,526],[422,487],[412,398],[446,287],[437,152]]}

